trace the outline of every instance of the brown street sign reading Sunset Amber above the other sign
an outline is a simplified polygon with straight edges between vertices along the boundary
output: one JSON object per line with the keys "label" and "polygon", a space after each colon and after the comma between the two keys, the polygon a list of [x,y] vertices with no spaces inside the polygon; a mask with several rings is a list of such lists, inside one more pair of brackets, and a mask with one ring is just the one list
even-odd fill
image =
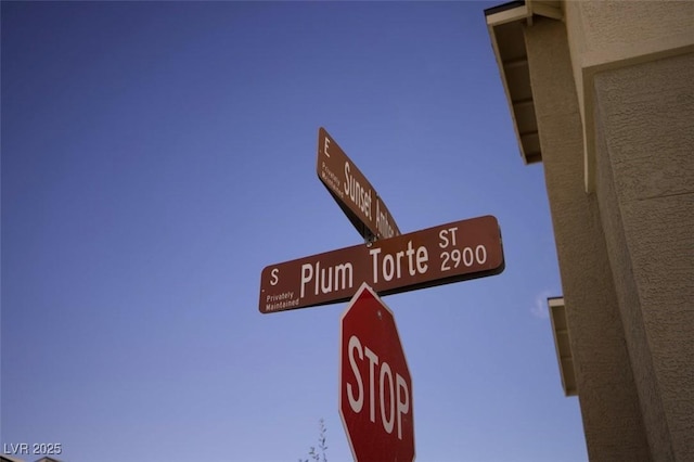
{"label": "brown street sign reading Sunset Amber above the other sign", "polygon": [[390,211],[367,177],[327,134],[318,130],[318,178],[367,241],[400,234]]}

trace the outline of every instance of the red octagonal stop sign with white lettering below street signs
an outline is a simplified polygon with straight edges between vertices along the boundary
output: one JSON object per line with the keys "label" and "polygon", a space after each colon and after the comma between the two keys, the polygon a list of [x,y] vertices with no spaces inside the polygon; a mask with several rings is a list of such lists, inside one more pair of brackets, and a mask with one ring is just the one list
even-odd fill
{"label": "red octagonal stop sign with white lettering below street signs", "polygon": [[412,378],[393,311],[365,283],[340,320],[339,414],[360,462],[414,460]]}

